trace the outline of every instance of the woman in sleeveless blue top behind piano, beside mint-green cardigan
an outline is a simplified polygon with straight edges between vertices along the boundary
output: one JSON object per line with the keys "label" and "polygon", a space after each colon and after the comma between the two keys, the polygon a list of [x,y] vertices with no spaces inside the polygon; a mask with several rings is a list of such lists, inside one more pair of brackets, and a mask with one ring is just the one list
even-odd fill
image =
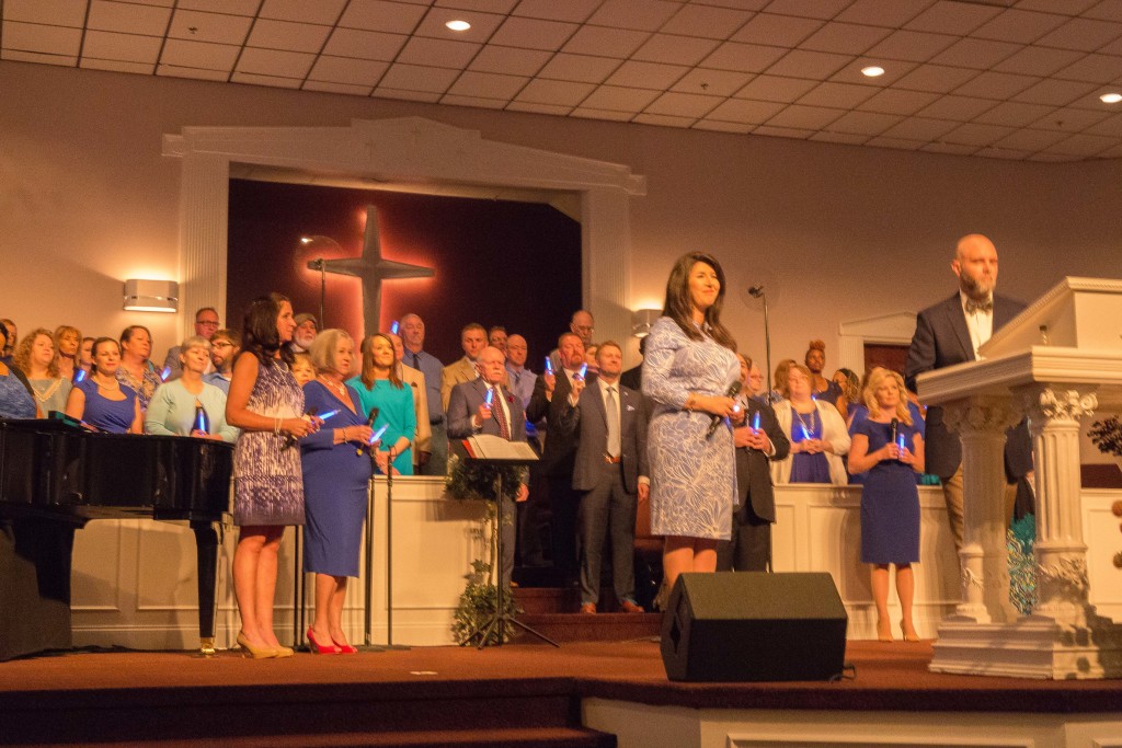
{"label": "woman in sleeveless blue top behind piano, beside mint-green cardigan", "polygon": [[93,341],[90,376],[74,385],[66,399],[66,415],[109,432],[142,434],[144,414],[137,394],[117,378],[121,366],[120,344],[112,338]]}

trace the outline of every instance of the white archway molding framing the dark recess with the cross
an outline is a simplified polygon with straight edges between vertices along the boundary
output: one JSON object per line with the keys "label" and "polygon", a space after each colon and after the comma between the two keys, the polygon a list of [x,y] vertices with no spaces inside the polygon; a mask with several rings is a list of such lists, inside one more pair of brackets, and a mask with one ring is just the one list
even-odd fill
{"label": "white archway molding framing the dark recess with the cross", "polygon": [[[185,127],[164,136],[164,156],[183,159],[180,195],[180,310],[214,306],[226,317],[231,164],[286,168],[310,177],[551,191],[580,197],[585,306],[601,338],[631,333],[628,201],[646,179],[627,166],[485,140],[419,117],[352,120],[343,128]],[[559,311],[568,315],[572,310]],[[188,332],[184,324],[184,332]]]}

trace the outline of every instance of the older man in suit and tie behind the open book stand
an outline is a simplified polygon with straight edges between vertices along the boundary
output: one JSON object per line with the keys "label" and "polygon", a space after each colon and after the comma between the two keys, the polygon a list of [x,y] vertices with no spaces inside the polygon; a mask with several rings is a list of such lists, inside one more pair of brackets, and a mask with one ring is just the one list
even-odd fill
{"label": "older man in suit and tie behind the open book stand", "polygon": [[[448,400],[449,438],[467,438],[475,434],[490,434],[512,442],[526,441],[526,417],[522,401],[503,386],[506,357],[497,348],[487,347],[476,359],[479,378],[452,387]],[[491,393],[490,405],[487,393]],[[523,472],[515,501],[525,501],[530,491],[526,472]],[[503,534],[502,583],[509,584],[514,570],[515,524],[514,505],[503,499],[499,532]]]}

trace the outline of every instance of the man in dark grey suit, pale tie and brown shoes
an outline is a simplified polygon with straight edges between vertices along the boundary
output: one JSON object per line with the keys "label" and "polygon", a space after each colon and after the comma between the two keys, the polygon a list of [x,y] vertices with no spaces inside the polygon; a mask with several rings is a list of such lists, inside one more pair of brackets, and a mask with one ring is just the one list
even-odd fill
{"label": "man in dark grey suit, pale tie and brown shoes", "polygon": [[624,353],[615,341],[596,351],[599,373],[588,387],[573,382],[561,422],[550,433],[577,432],[572,487],[581,491],[580,612],[595,613],[600,599],[604,541],[610,529],[611,581],[619,608],[641,613],[635,602],[635,510],[651,490],[646,465],[643,397],[619,384]]}

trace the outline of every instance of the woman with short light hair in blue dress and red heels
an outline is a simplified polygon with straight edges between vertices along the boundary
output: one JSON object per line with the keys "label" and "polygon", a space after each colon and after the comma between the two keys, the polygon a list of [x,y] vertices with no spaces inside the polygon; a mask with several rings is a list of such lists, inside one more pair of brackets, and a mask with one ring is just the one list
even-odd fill
{"label": "woman with short light hair in blue dress and red heels", "polygon": [[358,576],[362,520],[374,465],[370,427],[358,393],[343,384],[355,343],[342,330],[324,330],[310,351],[315,379],[304,385],[304,407],[323,427],[300,441],[304,465],[304,572],[315,574],[315,620],[307,629],[320,655],[355,654],[343,632],[347,578]]}

